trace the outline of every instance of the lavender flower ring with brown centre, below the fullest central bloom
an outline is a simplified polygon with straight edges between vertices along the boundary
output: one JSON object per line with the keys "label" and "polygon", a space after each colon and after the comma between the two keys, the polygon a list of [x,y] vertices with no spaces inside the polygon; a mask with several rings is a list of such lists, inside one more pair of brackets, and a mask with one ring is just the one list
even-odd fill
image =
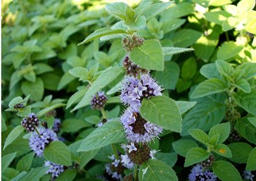
{"label": "lavender flower ring with brown centre, below the fullest central bloom", "polygon": [[120,120],[124,125],[127,139],[135,143],[148,142],[163,131],[161,127],[147,122],[140,113],[131,107],[125,110]]}

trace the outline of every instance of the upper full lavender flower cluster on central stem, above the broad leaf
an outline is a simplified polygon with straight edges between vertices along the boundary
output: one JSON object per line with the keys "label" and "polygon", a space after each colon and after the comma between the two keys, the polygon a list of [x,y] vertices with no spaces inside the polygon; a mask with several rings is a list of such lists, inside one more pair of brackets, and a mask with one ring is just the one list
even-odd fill
{"label": "upper full lavender flower cluster on central stem, above the broad leaf", "polygon": [[162,90],[149,73],[142,74],[140,79],[134,76],[125,76],[120,97],[125,105],[138,110],[143,98],[161,96]]}

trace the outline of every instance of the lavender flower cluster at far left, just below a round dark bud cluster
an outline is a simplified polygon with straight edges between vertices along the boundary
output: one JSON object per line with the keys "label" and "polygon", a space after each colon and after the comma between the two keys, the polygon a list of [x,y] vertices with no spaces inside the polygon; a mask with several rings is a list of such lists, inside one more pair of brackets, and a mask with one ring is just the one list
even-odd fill
{"label": "lavender flower cluster at far left, just below a round dark bud cluster", "polygon": [[[40,136],[38,135],[40,134]],[[33,150],[36,156],[42,156],[44,149],[51,141],[57,141],[57,134],[52,129],[40,127],[38,133],[33,132],[29,138],[29,147]]]}

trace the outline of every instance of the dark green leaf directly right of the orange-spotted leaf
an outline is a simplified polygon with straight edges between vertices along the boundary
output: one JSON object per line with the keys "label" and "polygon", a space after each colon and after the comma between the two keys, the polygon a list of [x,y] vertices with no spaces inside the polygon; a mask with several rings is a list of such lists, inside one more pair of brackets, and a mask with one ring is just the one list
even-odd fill
{"label": "dark green leaf directly right of the orange-spotted leaf", "polygon": [[249,154],[252,152],[252,146],[248,143],[230,143],[228,148],[232,152],[230,160],[236,163],[246,163]]}

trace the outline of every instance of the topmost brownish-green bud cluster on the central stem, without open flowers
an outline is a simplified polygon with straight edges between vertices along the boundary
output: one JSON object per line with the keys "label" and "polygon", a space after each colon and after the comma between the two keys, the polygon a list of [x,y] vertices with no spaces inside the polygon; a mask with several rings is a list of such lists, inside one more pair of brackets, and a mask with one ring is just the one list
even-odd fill
{"label": "topmost brownish-green bud cluster on the central stem, without open flowers", "polygon": [[131,52],[131,50],[133,50],[133,48],[135,47],[140,47],[140,45],[142,45],[143,42],[144,39],[137,35],[133,35],[132,37],[127,36],[122,40],[123,48],[127,52]]}

